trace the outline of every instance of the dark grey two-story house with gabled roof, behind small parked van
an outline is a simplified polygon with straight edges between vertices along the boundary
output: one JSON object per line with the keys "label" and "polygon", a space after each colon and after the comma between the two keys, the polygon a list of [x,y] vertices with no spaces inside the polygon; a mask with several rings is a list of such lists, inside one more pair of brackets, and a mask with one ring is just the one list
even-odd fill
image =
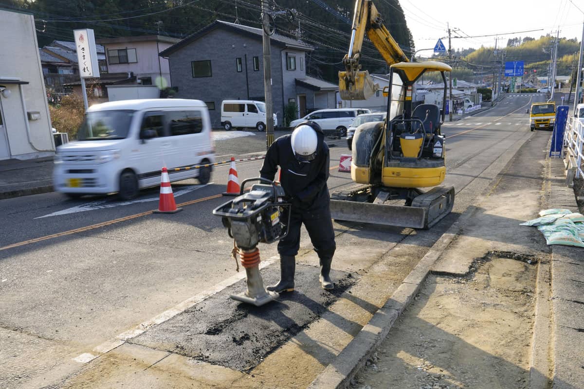
{"label": "dark grey two-story house with gabled roof, behind small parked van", "polygon": [[[265,100],[262,30],[217,20],[162,51],[168,58],[176,97],[207,103],[211,124],[219,127],[221,101]],[[303,116],[334,108],[338,86],[306,74],[314,48],[280,34],[270,37],[273,111],[283,123],[284,107],[295,102]]]}

